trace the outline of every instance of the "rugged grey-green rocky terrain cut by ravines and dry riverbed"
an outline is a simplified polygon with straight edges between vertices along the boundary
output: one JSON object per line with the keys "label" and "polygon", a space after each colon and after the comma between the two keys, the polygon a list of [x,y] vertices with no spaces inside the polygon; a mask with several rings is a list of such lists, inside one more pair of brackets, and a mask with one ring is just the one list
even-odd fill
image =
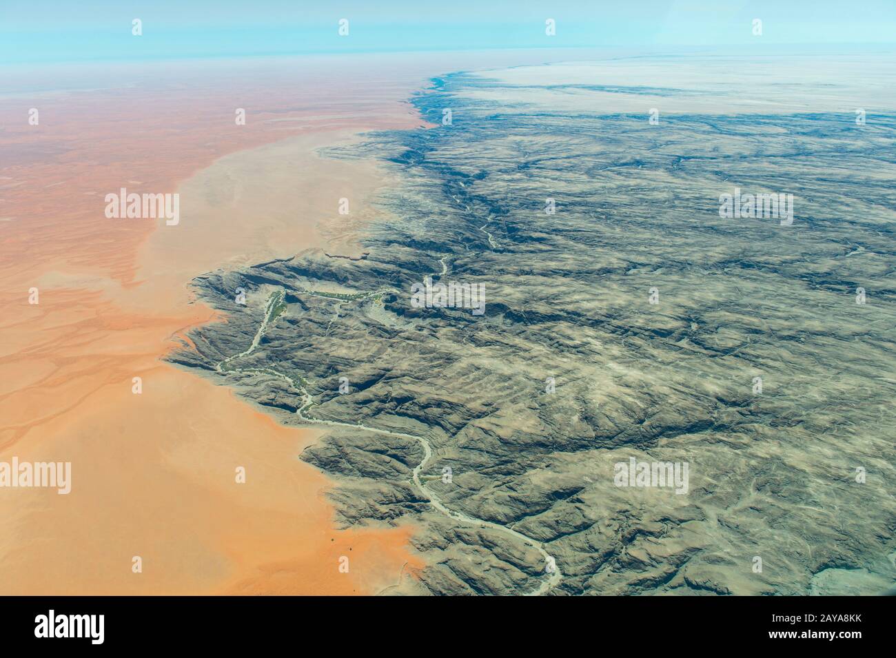
{"label": "rugged grey-green rocky terrain cut by ravines and dry riverbed", "polygon": [[[344,523],[418,523],[430,566],[409,587],[529,593],[544,547],[550,594],[883,590],[896,117],[658,129],[469,93],[489,84],[449,76],[414,102],[450,125],[332,150],[401,176],[380,201],[394,220],[363,259],[197,278],[228,321],[173,360],[284,423],[345,423],[302,458],[336,476]],[[794,193],[793,225],[720,218],[735,185]],[[482,286],[484,313],[420,307],[426,278]],[[687,464],[686,491],[619,486],[630,457]]]}

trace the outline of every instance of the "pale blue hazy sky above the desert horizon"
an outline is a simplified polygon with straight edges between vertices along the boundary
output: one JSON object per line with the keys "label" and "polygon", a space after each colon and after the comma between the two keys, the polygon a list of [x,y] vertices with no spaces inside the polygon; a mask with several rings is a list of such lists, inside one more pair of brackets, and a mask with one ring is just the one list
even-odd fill
{"label": "pale blue hazy sky above the desert horizon", "polygon": [[[142,37],[131,21],[142,20]],[[349,19],[349,36],[337,33]],[[556,36],[545,35],[545,20]],[[752,21],[762,20],[762,37]],[[761,39],[758,41],[757,39]],[[0,63],[896,42],[896,0],[2,0]]]}

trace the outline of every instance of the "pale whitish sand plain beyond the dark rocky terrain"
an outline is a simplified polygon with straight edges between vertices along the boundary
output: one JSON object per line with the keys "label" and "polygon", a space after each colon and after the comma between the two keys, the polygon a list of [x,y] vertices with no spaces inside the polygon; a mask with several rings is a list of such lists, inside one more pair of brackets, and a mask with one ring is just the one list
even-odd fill
{"label": "pale whitish sand plain beyond the dark rocky terrain", "polygon": [[748,52],[737,56],[658,56],[570,61],[473,73],[490,82],[469,98],[600,114],[868,115],[896,104],[896,56],[850,53],[807,56]]}

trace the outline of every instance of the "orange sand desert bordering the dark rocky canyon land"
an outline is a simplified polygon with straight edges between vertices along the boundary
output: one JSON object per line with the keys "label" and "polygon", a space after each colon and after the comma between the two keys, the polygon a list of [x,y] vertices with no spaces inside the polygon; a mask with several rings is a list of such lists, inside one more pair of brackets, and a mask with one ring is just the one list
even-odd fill
{"label": "orange sand desert bordering the dark rocky canyon land", "polygon": [[[172,337],[213,317],[191,303],[191,278],[340,234],[320,222],[353,178],[322,192],[333,176],[320,172],[335,170],[314,166],[319,135],[419,125],[401,99],[426,76],[376,73],[382,65],[308,58],[7,76],[0,460],[70,461],[72,492],[0,488],[0,594],[374,593],[420,566],[408,527],[333,528],[330,484],[297,459],[315,430],[282,427],[160,361]],[[39,125],[27,123],[30,107]],[[174,192],[217,158],[297,134],[308,141],[296,142],[295,184],[317,196],[295,231],[283,215],[202,201],[202,174],[184,186],[180,226],[104,216],[108,192]],[[239,171],[229,158],[221,167]],[[383,182],[354,166],[349,192],[363,215]],[[237,239],[240,222],[253,230]]]}

